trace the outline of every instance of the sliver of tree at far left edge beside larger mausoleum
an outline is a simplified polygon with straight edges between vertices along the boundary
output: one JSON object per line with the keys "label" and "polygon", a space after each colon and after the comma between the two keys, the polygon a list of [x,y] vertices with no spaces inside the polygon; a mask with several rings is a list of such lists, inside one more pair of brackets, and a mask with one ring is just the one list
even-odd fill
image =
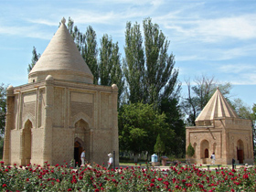
{"label": "sliver of tree at far left edge beside larger mausoleum", "polygon": [[0,134],[5,133],[5,113],[6,113],[6,86],[0,85]]}

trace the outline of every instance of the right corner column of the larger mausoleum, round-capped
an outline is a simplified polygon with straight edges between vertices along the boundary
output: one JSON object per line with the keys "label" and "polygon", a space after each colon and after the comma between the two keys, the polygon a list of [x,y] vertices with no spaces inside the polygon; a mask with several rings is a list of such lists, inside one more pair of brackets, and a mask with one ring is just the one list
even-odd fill
{"label": "right corner column of the larger mausoleum, round-capped", "polygon": [[115,165],[119,165],[117,102],[118,102],[118,88],[116,84],[112,84],[112,149],[113,151],[115,151]]}

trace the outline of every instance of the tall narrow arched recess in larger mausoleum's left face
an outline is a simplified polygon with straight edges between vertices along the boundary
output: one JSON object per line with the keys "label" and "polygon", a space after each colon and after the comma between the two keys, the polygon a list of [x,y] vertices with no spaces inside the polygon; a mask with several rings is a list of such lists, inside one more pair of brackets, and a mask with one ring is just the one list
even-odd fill
{"label": "tall narrow arched recess in larger mausoleum's left face", "polygon": [[21,134],[21,165],[28,165],[30,163],[32,143],[31,128],[32,123],[27,120]]}

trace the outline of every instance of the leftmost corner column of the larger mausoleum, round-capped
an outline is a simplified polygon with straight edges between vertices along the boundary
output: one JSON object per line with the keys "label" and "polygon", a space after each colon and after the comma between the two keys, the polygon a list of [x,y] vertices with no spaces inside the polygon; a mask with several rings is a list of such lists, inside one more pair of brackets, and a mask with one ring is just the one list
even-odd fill
{"label": "leftmost corner column of the larger mausoleum, round-capped", "polygon": [[15,94],[13,86],[9,86],[6,91],[6,119],[5,119],[5,139],[4,139],[4,156],[5,165],[10,165],[10,134],[14,128],[14,106]]}

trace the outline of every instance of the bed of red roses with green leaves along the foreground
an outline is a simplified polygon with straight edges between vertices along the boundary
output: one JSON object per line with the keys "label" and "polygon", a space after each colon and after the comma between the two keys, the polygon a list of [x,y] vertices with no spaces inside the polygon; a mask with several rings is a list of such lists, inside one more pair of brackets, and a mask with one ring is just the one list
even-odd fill
{"label": "bed of red roses with green leaves along the foreground", "polygon": [[[68,164],[67,164],[68,165]],[[256,167],[200,170],[171,166],[168,170],[101,165],[74,169],[67,165],[1,166],[1,191],[254,191]]]}

